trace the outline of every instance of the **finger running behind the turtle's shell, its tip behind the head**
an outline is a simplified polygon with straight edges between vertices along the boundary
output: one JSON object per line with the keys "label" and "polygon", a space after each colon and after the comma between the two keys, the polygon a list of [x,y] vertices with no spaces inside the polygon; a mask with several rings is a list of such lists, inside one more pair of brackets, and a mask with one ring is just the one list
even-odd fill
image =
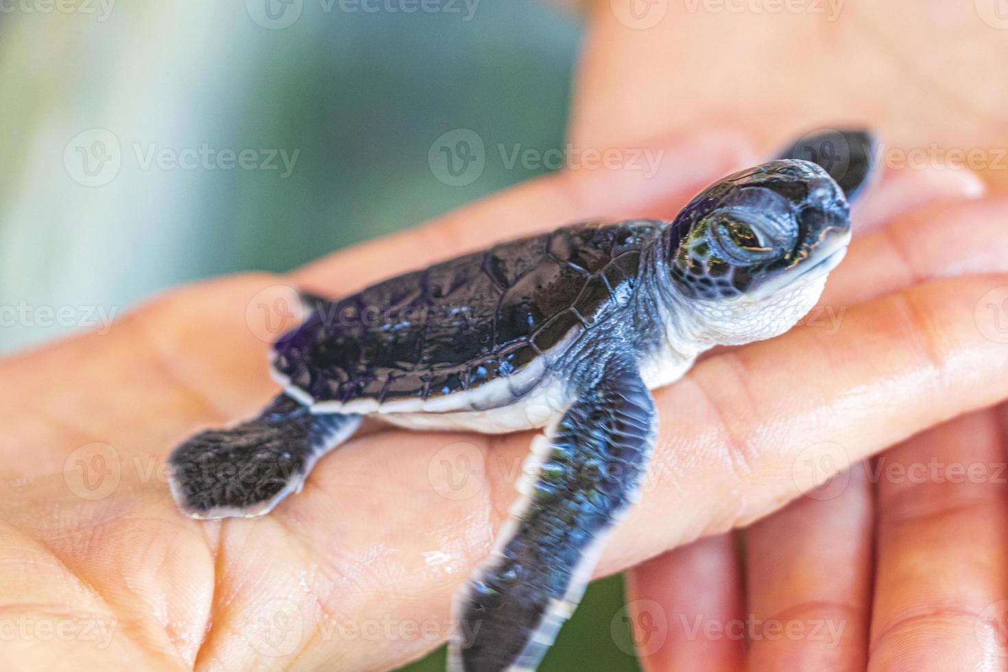
{"label": "finger running behind the turtle's shell, its tip behind the head", "polygon": [[431,224],[326,257],[292,277],[342,294],[397,271],[579,220],[668,218],[710,182],[755,162],[745,140],[727,130],[677,136],[656,148],[625,149],[646,152],[653,166],[564,170],[540,177]]}

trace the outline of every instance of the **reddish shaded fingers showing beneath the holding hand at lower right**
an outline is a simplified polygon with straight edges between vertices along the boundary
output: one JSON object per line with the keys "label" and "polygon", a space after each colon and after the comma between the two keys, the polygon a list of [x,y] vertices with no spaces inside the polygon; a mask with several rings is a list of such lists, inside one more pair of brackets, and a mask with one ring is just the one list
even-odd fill
{"label": "reddish shaded fingers showing beneath the holding hand at lower right", "polygon": [[1002,406],[635,567],[643,668],[1003,669],[1005,463]]}

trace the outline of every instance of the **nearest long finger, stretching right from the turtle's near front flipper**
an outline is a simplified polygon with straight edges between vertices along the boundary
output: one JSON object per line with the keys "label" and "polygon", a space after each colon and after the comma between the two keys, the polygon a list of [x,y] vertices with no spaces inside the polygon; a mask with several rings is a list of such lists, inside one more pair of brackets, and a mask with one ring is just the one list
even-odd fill
{"label": "nearest long finger, stretching right from the turtle's near front flipper", "polygon": [[[1000,402],[1008,315],[978,308],[1005,286],[1004,274],[925,283],[852,308],[835,333],[799,327],[700,363],[655,395],[653,496],[630,519],[676,511],[668,532],[680,538],[703,520],[709,532],[744,526],[914,432]],[[805,460],[829,468],[808,477]],[[635,541],[656,555],[661,536]]]}

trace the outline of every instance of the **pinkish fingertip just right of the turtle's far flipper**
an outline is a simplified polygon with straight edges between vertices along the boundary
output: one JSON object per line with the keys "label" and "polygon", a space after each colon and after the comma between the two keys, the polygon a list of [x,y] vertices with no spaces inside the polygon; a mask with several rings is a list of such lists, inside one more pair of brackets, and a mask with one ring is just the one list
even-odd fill
{"label": "pinkish fingertip just right of the turtle's far flipper", "polygon": [[854,230],[865,234],[923,205],[979,198],[986,190],[984,180],[971,170],[885,169],[878,186],[852,208]]}

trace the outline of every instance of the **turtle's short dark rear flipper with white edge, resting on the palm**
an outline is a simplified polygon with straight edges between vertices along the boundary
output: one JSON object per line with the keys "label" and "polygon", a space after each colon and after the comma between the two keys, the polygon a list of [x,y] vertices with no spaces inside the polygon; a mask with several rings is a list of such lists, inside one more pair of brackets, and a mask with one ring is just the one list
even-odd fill
{"label": "turtle's short dark rear flipper with white edge, resting on the palm", "polygon": [[281,394],[259,417],[208,429],[175,448],[171,494],[194,518],[261,516],[299,490],[314,461],[360,423],[359,415],[312,415]]}

